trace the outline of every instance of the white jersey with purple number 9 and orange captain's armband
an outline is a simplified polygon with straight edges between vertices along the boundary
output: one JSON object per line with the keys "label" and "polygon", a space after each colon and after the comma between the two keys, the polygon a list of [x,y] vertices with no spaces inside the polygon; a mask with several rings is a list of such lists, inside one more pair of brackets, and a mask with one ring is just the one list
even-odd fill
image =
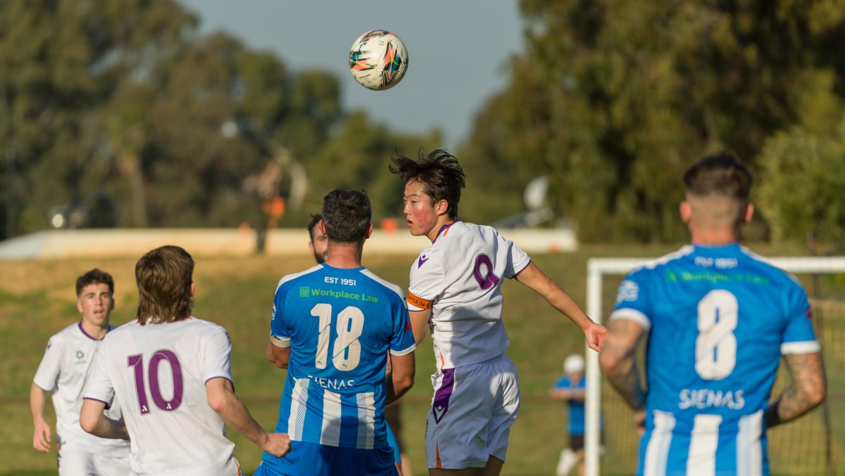
{"label": "white jersey with purple number 9 and orange captain's armband", "polygon": [[475,364],[504,353],[502,279],[531,262],[490,226],[444,225],[411,265],[408,307],[431,309],[429,327],[439,369]]}

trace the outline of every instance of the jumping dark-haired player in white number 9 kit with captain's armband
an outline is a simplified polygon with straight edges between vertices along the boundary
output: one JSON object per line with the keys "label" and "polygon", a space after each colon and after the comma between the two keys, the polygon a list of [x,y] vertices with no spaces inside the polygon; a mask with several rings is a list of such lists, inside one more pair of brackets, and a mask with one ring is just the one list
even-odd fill
{"label": "jumping dark-haired player in white number 9 kit with captain's armband", "polygon": [[455,156],[438,149],[418,160],[402,154],[390,171],[405,181],[411,234],[432,246],[411,265],[408,310],[417,345],[431,333],[437,372],[426,427],[428,473],[498,475],[520,406],[516,368],[504,349],[504,279],[516,279],[570,318],[591,349],[608,329],[593,322],[564,289],[512,241],[489,226],[458,219],[466,184]]}

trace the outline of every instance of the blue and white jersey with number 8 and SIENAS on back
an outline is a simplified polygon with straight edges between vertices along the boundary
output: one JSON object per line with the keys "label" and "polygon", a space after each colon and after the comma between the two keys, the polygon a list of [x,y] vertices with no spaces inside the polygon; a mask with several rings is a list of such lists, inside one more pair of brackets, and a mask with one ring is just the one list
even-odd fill
{"label": "blue and white jersey with number 8 and SIENAS on back", "polygon": [[684,246],[625,277],[613,319],[648,333],[637,473],[767,474],[781,354],[820,350],[799,282],[739,244]]}

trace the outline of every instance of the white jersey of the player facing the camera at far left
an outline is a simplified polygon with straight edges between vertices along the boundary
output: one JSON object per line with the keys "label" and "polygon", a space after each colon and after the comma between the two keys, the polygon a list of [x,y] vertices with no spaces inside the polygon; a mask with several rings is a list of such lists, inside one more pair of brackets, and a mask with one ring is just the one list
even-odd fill
{"label": "white jersey of the player facing the camera at far left", "polygon": [[[91,452],[97,454],[128,452],[128,441],[90,435],[79,426],[83,388],[101,343],[101,340],[85,333],[82,322],[63,328],[47,341],[47,349],[33,381],[44,391],[52,392],[57,441],[79,440],[84,442],[84,446],[90,448]],[[117,403],[112,404],[111,408],[106,410],[106,415],[111,419],[120,419],[120,406]]]}

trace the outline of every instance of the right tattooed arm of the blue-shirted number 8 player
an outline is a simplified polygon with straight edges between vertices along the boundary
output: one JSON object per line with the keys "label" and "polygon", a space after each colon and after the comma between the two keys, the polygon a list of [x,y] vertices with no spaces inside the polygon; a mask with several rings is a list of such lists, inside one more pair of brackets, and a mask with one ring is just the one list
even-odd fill
{"label": "right tattooed arm of the blue-shirted number 8 player", "polygon": [[783,389],[775,403],[766,408],[766,427],[799,418],[820,405],[827,394],[827,381],[821,353],[785,354],[792,382]]}

